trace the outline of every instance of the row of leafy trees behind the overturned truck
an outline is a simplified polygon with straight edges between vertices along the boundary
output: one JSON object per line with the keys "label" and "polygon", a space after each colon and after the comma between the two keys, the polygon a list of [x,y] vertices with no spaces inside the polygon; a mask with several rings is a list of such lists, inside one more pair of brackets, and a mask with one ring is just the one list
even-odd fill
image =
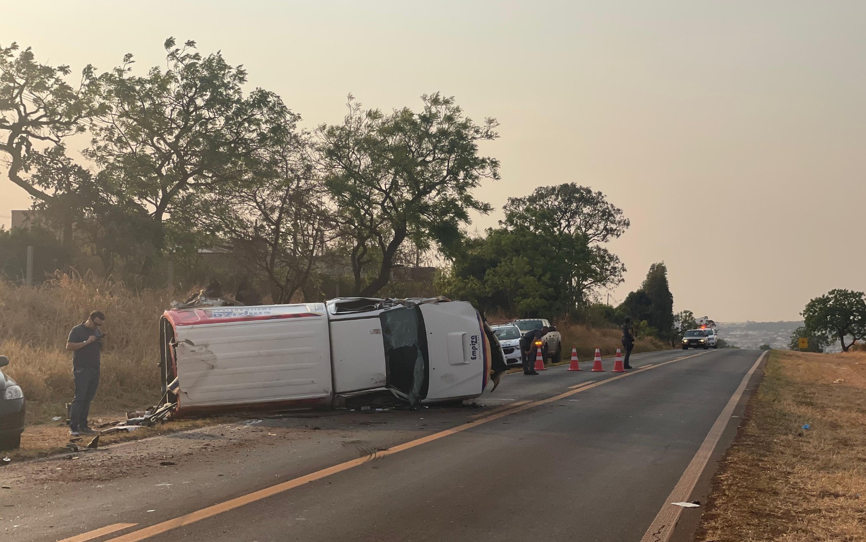
{"label": "row of leafy trees behind the overturned truck", "polygon": [[[585,186],[509,198],[499,228],[467,234],[471,213],[493,210],[475,189],[500,178],[479,152],[499,125],[470,119],[453,97],[389,113],[350,95],[343,122],[307,130],[220,52],[164,47],[165,68],[136,69],[127,54],[79,77],[0,45],[0,157],[61,233],[45,265],[86,252],[155,286],[169,262],[189,266],[197,248],[228,240],[281,303],[314,298],[332,268],[347,270],[347,293],[378,294],[395,268],[437,254],[444,293],[521,314],[573,313],[623,281],[604,245],[629,221]],[[69,151],[81,143],[85,160]],[[27,235],[0,231],[0,242]]]}

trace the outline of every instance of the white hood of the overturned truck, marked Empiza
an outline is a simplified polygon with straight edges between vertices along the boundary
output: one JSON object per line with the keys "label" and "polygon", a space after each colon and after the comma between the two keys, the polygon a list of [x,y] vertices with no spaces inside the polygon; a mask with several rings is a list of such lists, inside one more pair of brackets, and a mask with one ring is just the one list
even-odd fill
{"label": "white hood of the overturned truck, marked Empiza", "polygon": [[420,308],[430,355],[425,401],[481,395],[487,385],[490,349],[475,307],[466,301],[449,301]]}

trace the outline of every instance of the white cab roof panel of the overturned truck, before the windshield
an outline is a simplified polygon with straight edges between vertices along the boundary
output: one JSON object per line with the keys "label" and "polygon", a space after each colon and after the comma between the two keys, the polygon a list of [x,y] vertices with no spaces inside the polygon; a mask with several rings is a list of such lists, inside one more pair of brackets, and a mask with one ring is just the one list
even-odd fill
{"label": "white cab roof panel of the overturned truck, before the windshield", "polygon": [[385,344],[375,316],[331,321],[334,393],[385,387]]}

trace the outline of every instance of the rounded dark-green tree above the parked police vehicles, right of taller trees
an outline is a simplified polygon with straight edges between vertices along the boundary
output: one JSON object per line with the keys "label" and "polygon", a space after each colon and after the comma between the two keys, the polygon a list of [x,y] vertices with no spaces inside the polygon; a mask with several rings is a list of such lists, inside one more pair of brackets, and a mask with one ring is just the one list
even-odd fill
{"label": "rounded dark-green tree above the parked police vehicles, right of taller trees", "polygon": [[526,229],[553,245],[544,261],[567,307],[585,303],[593,289],[622,283],[624,264],[601,243],[622,236],[630,222],[602,192],[575,183],[540,186],[527,197],[509,197],[503,209],[508,229]]}

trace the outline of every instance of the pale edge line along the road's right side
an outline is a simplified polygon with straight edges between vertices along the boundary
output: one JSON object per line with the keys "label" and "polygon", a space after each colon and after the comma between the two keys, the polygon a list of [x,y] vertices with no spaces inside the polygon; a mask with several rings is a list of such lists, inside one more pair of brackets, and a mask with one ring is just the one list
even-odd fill
{"label": "pale edge line along the road's right side", "polygon": [[670,536],[674,533],[674,527],[676,526],[676,522],[680,519],[682,508],[673,507],[670,503],[688,501],[689,495],[691,495],[692,491],[695,490],[698,478],[701,477],[704,468],[707,468],[709,458],[713,455],[716,445],[718,445],[721,440],[721,435],[724,433],[727,423],[730,421],[731,415],[734,413],[734,408],[737,406],[737,403],[740,402],[740,397],[743,396],[743,391],[746,390],[746,384],[748,384],[749,378],[751,378],[754,371],[758,369],[758,365],[760,365],[764,356],[766,356],[766,352],[761,354],[758,361],[756,361],[754,365],[752,365],[752,368],[746,372],[746,376],[743,377],[740,385],[734,391],[734,395],[731,396],[727,405],[725,405],[725,408],[721,410],[719,417],[716,418],[713,427],[710,428],[707,438],[705,438],[704,442],[701,444],[701,448],[698,448],[695,457],[692,458],[692,461],[688,463],[685,472],[682,473],[680,481],[676,482],[674,490],[670,492],[668,499],[662,504],[662,509],[656,514],[656,519],[653,519],[650,528],[643,534],[641,542],[668,542]]}

